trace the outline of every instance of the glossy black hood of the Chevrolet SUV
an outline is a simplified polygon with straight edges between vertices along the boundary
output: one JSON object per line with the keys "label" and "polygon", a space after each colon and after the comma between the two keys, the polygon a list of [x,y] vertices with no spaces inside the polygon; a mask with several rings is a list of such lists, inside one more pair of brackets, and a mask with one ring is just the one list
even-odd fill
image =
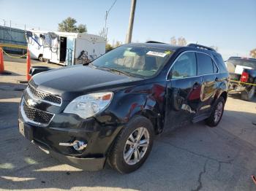
{"label": "glossy black hood of the Chevrolet SUV", "polygon": [[106,90],[111,86],[122,86],[124,83],[138,80],[141,78],[78,65],[39,73],[31,79],[30,84],[38,90],[63,97],[69,93],[79,95],[90,90]]}

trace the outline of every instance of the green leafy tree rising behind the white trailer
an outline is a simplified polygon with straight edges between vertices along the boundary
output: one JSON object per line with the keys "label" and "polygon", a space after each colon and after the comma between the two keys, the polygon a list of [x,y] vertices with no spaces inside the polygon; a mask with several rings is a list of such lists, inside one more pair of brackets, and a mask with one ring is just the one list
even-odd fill
{"label": "green leafy tree rising behind the white trailer", "polygon": [[79,26],[76,26],[75,24],[77,21],[75,18],[67,17],[67,19],[62,20],[61,23],[59,23],[58,31],[60,32],[69,32],[69,33],[86,33],[87,28],[86,25],[80,24]]}

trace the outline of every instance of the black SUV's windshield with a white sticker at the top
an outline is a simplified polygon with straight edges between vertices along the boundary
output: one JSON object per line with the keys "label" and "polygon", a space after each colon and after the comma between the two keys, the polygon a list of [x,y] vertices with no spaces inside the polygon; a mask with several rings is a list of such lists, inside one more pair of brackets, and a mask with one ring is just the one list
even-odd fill
{"label": "black SUV's windshield with a white sticker at the top", "polygon": [[133,77],[151,77],[162,69],[173,51],[143,46],[121,46],[92,62],[99,69]]}

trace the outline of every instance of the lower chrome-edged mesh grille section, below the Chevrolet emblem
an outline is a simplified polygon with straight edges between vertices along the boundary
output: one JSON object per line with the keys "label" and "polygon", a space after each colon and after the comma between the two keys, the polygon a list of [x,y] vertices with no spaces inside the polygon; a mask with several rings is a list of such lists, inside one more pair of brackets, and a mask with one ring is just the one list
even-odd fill
{"label": "lower chrome-edged mesh grille section, below the Chevrolet emblem", "polygon": [[29,119],[32,123],[40,123],[40,125],[48,125],[50,120],[53,118],[54,114],[48,112],[43,112],[39,109],[31,108],[26,104],[26,101],[23,100],[22,103],[23,112],[26,115],[26,118]]}

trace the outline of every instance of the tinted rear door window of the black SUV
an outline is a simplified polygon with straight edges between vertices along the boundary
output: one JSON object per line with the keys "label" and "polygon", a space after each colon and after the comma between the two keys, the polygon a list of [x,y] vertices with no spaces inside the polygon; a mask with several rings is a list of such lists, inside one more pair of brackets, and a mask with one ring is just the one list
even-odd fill
{"label": "tinted rear door window of the black SUV", "polygon": [[197,53],[197,74],[212,74],[214,73],[214,66],[212,65],[211,57],[203,54]]}

